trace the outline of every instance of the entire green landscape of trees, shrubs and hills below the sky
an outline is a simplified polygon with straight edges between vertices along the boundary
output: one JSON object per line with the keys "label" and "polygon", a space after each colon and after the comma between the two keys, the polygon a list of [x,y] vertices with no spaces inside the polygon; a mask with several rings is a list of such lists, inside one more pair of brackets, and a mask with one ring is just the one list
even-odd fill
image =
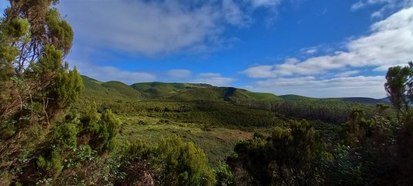
{"label": "entire green landscape of trees, shrubs and hills below the sky", "polygon": [[0,20],[0,185],[413,185],[413,63],[391,104],[100,82],[64,62],[56,3]]}

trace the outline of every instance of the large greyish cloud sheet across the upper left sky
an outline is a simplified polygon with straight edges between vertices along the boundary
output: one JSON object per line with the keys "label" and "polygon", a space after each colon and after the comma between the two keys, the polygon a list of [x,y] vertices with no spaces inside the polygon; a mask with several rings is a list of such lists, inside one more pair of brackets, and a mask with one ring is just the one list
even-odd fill
{"label": "large greyish cloud sheet across the upper left sky", "polygon": [[[59,10],[76,30],[79,45],[127,54],[158,56],[211,51],[231,45],[225,25],[251,25],[248,7],[275,6],[279,0],[248,1],[61,1]],[[246,11],[248,9],[248,11]],[[75,42],[76,43],[76,42]]]}

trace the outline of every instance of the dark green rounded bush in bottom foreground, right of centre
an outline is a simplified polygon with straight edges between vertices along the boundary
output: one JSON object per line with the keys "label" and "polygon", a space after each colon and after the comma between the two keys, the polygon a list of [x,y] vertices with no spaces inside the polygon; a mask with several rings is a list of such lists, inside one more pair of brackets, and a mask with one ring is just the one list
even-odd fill
{"label": "dark green rounded bush in bottom foreground, right of centre", "polygon": [[260,185],[317,184],[318,135],[307,121],[290,121],[289,128],[275,127],[270,137],[252,138],[235,145],[235,159]]}

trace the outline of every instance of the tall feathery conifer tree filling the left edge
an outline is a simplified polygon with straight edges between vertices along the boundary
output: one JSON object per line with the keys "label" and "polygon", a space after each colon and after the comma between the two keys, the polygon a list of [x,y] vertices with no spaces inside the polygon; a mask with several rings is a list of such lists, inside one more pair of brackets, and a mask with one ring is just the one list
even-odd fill
{"label": "tall feathery conifer tree filling the left edge", "polygon": [[[0,185],[28,166],[83,83],[63,62],[73,30],[56,0],[10,0],[0,19]],[[9,179],[7,179],[9,178]]]}

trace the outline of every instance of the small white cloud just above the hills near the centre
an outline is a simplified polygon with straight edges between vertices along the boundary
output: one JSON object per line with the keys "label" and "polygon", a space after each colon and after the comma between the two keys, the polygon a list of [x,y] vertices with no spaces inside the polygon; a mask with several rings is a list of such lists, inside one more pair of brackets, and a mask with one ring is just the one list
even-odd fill
{"label": "small white cloud just above the hills near the centre", "polygon": [[235,81],[233,78],[222,77],[219,73],[201,73],[192,83],[207,83],[215,86],[230,86]]}

